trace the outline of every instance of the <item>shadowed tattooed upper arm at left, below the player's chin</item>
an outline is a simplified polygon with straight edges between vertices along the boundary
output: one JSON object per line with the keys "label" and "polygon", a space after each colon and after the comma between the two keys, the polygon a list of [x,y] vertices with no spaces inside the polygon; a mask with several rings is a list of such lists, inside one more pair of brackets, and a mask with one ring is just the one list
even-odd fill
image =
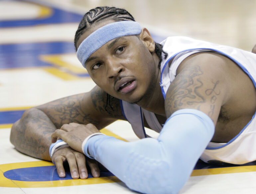
{"label": "shadowed tattooed upper arm at left, below the player's chin", "polygon": [[42,110],[57,128],[68,123],[92,123],[102,129],[117,119],[123,119],[119,100],[108,99],[98,86],[90,92],[64,97],[36,108]]}

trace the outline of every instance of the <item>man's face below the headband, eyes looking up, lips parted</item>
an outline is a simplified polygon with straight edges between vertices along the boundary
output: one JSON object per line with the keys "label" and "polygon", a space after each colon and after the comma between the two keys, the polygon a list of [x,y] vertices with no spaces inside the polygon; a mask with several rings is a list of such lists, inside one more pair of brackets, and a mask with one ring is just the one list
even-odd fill
{"label": "man's face below the headband, eyes looking up, lips parted", "polygon": [[[78,44],[85,38],[82,37]],[[150,95],[159,73],[147,45],[138,36],[113,39],[90,55],[85,62],[86,69],[105,92],[137,103],[145,95]]]}

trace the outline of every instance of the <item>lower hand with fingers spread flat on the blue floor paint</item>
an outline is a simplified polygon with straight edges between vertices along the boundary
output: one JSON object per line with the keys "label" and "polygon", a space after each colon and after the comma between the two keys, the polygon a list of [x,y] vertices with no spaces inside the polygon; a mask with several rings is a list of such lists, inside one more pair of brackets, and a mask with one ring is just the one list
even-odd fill
{"label": "lower hand with fingers spread flat on the blue floor paint", "polygon": [[86,179],[88,177],[88,171],[86,168],[86,162],[91,169],[93,177],[99,177],[100,170],[96,160],[85,157],[84,154],[73,150],[67,145],[63,145],[57,148],[52,157],[53,163],[56,165],[57,172],[61,178],[64,178],[65,170],[63,162],[67,161],[70,169],[70,174],[73,179]]}

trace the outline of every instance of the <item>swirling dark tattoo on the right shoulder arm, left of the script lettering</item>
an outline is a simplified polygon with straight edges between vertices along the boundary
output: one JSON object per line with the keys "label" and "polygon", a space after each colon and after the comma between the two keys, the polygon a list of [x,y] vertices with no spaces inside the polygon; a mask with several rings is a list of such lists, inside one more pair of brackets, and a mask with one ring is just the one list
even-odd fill
{"label": "swirling dark tattoo on the right shoulder arm, left of the script lettering", "polygon": [[166,94],[167,117],[184,104],[199,110],[200,104],[205,102],[203,95],[198,91],[203,86],[199,79],[202,74],[199,66],[193,66],[184,69],[182,73],[176,76]]}

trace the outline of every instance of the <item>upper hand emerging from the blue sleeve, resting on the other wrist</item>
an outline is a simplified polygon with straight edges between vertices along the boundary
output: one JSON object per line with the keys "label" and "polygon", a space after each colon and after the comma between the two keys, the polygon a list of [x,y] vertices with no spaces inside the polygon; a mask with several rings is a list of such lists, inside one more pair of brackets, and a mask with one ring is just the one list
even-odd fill
{"label": "upper hand emerging from the blue sleeve, resting on the other wrist", "polygon": [[82,151],[82,143],[89,135],[99,133],[99,130],[93,124],[64,124],[61,129],[55,130],[52,134],[52,143],[55,143],[58,138],[66,142],[70,147],[76,151]]}

